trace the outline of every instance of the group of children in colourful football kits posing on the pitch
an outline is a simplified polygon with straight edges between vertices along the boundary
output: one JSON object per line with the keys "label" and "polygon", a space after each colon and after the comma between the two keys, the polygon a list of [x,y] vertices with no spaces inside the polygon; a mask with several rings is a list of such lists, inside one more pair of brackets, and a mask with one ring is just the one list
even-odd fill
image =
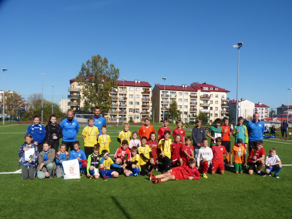
{"label": "group of children in colourful football kits posing on the pitch", "polygon": [[[207,132],[207,136],[211,138],[211,148],[208,147],[208,140],[202,138],[200,144],[196,142],[196,145],[199,145],[197,156],[194,156],[194,146],[191,145],[192,137],[185,137],[180,120],[176,121],[177,128],[173,130],[174,141],[172,141],[170,139],[171,130],[168,127],[169,121],[164,119],[163,126],[157,133],[158,142],[149,117],[145,118],[145,124],[138,132],[134,131],[133,135],[129,131],[129,124],[124,123],[124,130],[119,133],[117,138],[120,147],[117,148],[114,154],[115,161],[113,161],[109,157],[111,139],[106,134],[107,127],[101,126],[102,133],[99,135],[98,128],[93,126],[93,117],[89,117],[88,126],[82,132],[85,152],[80,149],[79,141],[76,141],[74,150],[70,154],[66,151],[65,144],[61,144],[60,151],[55,153],[49,142],[44,142],[43,151],[39,153],[38,147],[33,143],[32,135],[28,134],[25,136],[25,143],[20,146],[19,165],[21,165],[23,179],[33,179],[36,173],[39,179],[46,177],[52,179],[54,174],[57,178],[62,178],[64,177],[62,162],[77,159],[81,177],[86,173],[88,178],[101,177],[103,180],[107,180],[107,178],[117,178],[120,173],[124,173],[127,177],[132,175],[137,177],[140,174],[148,175],[148,179],[153,180],[155,184],[167,180],[199,179],[199,172],[204,178],[208,178],[208,170],[211,174],[215,174],[216,171],[224,174],[228,163],[234,166],[235,173],[242,173],[246,161],[246,146],[244,145],[246,140],[242,139],[244,132],[241,129],[246,130],[246,127],[240,121],[239,125],[231,130],[228,126],[228,118],[223,119],[223,126],[220,126],[221,120],[216,119],[215,126],[209,128]],[[232,134],[236,136],[236,143],[230,150],[230,135]],[[138,135],[140,140],[138,140]],[[237,136],[241,138],[237,138]],[[25,153],[27,150],[33,151],[30,153],[30,157],[27,157],[28,153]],[[229,152],[231,152],[230,155]],[[232,157],[234,157],[234,163]],[[261,173],[261,169],[265,165],[267,174],[270,175],[275,171],[274,176],[279,178],[281,160],[276,155],[276,149],[271,148],[266,162],[264,159],[263,142],[259,141],[256,149],[251,150],[248,154],[248,173],[253,174],[255,165],[257,165],[257,173],[265,176]],[[162,174],[154,176],[152,171],[154,168],[159,170],[160,162]],[[172,169],[170,169],[170,164]]]}

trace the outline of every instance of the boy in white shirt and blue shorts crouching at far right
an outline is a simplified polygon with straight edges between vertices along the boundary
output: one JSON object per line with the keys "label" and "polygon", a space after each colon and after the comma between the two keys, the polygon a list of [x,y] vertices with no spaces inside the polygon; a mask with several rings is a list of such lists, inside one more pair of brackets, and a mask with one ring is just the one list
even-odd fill
{"label": "boy in white shirt and blue shorts crouching at far right", "polygon": [[272,147],[270,149],[270,155],[266,157],[265,166],[265,171],[269,176],[272,176],[272,172],[275,172],[274,177],[279,178],[278,174],[282,169],[282,162],[276,154],[276,148]]}

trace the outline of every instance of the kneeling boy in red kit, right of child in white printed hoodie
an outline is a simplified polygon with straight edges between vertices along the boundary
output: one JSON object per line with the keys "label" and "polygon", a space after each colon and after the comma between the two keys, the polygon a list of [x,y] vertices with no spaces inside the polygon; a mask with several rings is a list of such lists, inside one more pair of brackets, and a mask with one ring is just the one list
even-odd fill
{"label": "kneeling boy in red kit, right of child in white printed hoodie", "polygon": [[224,146],[221,145],[222,138],[217,137],[215,139],[216,145],[214,145],[211,149],[213,152],[213,159],[212,159],[212,175],[215,174],[216,170],[219,168],[220,173],[224,174],[224,158],[225,156],[228,156],[227,151]]}

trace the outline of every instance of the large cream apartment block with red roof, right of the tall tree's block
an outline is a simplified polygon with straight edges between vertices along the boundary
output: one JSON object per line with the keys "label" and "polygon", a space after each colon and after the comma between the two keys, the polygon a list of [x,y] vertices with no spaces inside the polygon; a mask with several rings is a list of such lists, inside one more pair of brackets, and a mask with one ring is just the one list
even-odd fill
{"label": "large cream apartment block with red roof, right of the tall tree's block", "polygon": [[200,112],[206,113],[211,124],[216,118],[226,116],[227,91],[208,83],[192,83],[190,86],[155,84],[152,90],[152,112],[154,122],[167,117],[169,104],[178,103],[182,121],[195,122]]}

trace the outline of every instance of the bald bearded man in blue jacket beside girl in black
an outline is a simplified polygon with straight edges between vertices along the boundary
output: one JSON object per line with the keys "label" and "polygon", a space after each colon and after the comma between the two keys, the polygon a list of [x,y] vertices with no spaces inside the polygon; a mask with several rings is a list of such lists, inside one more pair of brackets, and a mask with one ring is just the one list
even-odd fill
{"label": "bald bearded man in blue jacket beside girl in black", "polygon": [[62,144],[66,145],[66,151],[74,150],[74,142],[77,140],[76,136],[79,131],[79,124],[76,119],[73,118],[73,112],[69,110],[67,112],[67,118],[64,119],[61,123],[60,126],[63,131],[63,139],[62,139]]}

